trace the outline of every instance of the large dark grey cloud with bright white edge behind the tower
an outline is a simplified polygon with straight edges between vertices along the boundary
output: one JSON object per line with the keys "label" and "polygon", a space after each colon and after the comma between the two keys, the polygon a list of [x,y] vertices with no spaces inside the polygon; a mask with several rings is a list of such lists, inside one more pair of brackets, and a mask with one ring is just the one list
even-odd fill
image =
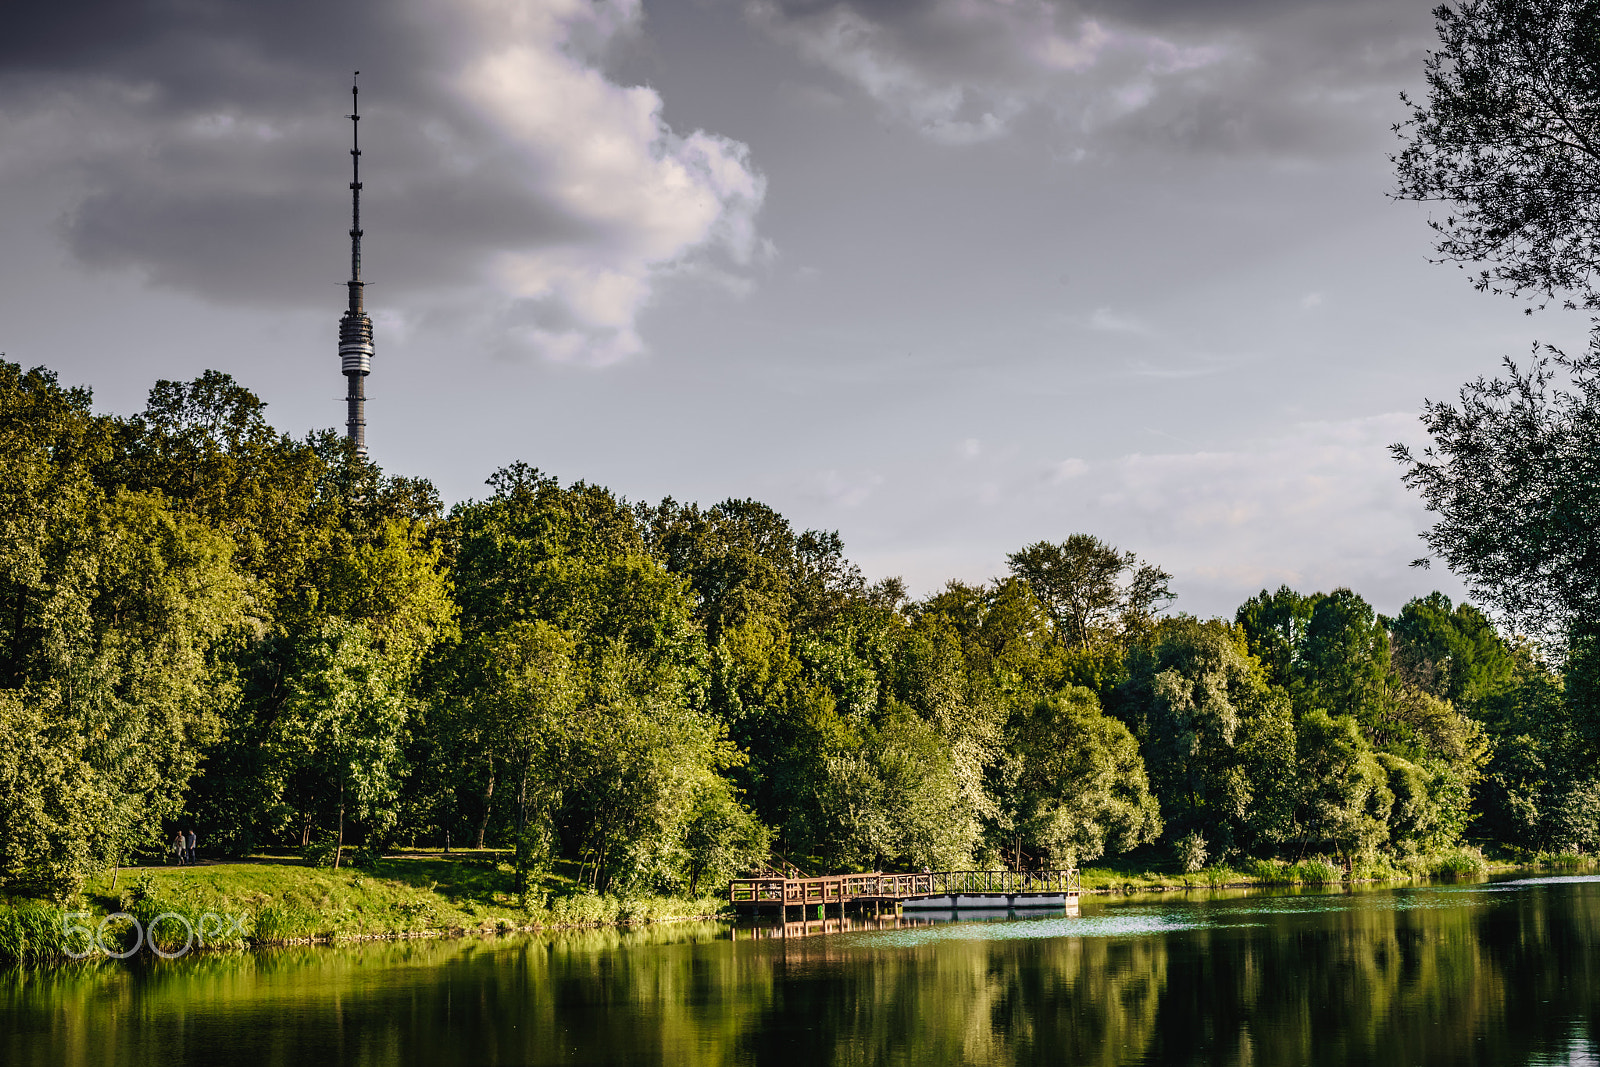
{"label": "large dark grey cloud with bright white edge behind the tower", "polygon": [[[11,18],[11,16],[8,16]],[[662,272],[749,264],[765,178],[605,70],[638,0],[29,5],[0,38],[0,173],[50,171],[80,261],[206,298],[325,304],[363,67],[379,296],[472,293],[498,349],[645,347]],[[496,312],[483,317],[488,299]]]}

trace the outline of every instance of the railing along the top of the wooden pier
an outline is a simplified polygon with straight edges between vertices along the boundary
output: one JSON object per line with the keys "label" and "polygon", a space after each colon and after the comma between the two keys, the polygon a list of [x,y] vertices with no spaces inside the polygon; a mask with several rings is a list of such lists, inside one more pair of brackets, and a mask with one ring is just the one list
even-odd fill
{"label": "railing along the top of the wooden pier", "polygon": [[973,893],[1080,891],[1077,869],[1064,870],[939,870],[926,873],[824,875],[819,878],[734,878],[733,904],[843,904],[856,899],[906,899]]}

